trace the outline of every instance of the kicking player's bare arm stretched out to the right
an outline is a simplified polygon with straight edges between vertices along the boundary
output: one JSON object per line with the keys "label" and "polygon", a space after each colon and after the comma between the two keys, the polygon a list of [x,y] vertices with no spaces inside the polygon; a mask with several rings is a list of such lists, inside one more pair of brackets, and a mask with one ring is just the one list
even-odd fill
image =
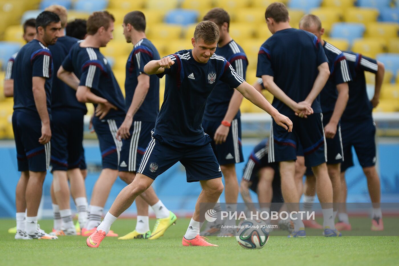
{"label": "kicking player's bare arm stretched out to the right", "polygon": [[273,107],[259,91],[249,85],[246,81],[241,83],[241,85],[237,87],[237,90],[241,92],[245,98],[251,101],[251,103],[269,113],[276,121],[277,125],[284,127],[288,132],[292,131],[292,121],[285,115],[280,114],[279,111],[277,111],[277,109]]}

